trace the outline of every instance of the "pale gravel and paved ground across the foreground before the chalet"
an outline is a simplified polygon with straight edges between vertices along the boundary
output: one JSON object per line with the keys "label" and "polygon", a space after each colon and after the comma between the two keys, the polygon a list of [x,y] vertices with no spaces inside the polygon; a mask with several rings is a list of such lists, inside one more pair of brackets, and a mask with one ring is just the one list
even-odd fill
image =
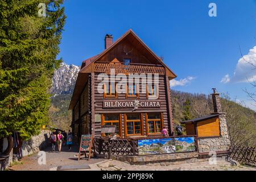
{"label": "pale gravel and paved ground across the foreground before the chalet", "polygon": [[21,162],[10,167],[10,170],[14,171],[56,171],[58,166],[79,166],[81,164],[89,164],[90,169],[82,169],[84,171],[99,170],[99,171],[256,171],[256,168],[245,166],[231,167],[228,162],[218,162],[217,165],[209,165],[209,163],[191,163],[182,164],[179,166],[136,166],[128,163],[119,162],[117,160],[105,160],[105,159],[85,159],[77,160],[75,155],[78,155],[78,147],[73,147],[71,151],[68,151],[68,147],[64,146],[62,152],[51,152],[51,147],[44,150],[46,152],[46,164],[39,165],[37,154],[26,156]]}

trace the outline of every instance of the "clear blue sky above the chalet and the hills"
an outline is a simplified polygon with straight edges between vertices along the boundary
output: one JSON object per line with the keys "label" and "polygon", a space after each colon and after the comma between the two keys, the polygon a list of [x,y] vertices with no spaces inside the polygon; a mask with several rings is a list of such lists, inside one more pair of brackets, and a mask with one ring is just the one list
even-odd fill
{"label": "clear blue sky above the chalet and the hills", "polygon": [[[217,17],[208,15],[211,2]],[[239,47],[247,55],[256,46],[256,1],[66,0],[65,13],[59,54],[65,63],[81,65],[104,50],[107,33],[117,39],[132,28],[176,73],[173,89],[209,94],[217,88],[253,108],[242,90],[252,87],[242,78],[255,76],[256,70],[238,60]],[[254,56],[251,51],[247,58]]]}

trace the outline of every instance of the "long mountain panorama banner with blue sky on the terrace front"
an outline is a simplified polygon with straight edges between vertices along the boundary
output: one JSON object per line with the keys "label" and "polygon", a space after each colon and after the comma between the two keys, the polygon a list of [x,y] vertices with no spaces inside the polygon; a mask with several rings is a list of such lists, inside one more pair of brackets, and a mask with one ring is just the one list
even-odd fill
{"label": "long mountain panorama banner with blue sky on the terrace front", "polygon": [[139,155],[196,151],[193,137],[138,140]]}

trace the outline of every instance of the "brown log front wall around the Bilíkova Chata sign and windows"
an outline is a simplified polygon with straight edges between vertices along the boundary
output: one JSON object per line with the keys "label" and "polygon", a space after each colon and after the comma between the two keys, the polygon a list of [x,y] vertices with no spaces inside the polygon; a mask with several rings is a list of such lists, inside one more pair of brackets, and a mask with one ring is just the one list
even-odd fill
{"label": "brown log front wall around the Bil\u00edkova Chata sign and windows", "polygon": [[[168,100],[167,100],[167,88],[165,84],[165,76],[159,76],[159,98],[157,100],[152,100],[156,102],[160,102],[160,107],[159,108],[142,108],[139,107],[137,110],[132,111],[133,108],[122,108],[122,109],[109,109],[109,108],[104,108],[103,107],[103,101],[148,101],[147,100],[147,94],[146,93],[139,93],[139,98],[126,98],[125,93],[120,93],[118,94],[117,98],[104,98],[104,94],[98,93],[97,92],[97,87],[98,84],[100,84],[100,80],[97,79],[98,74],[95,74],[94,77],[94,100],[95,100],[95,114],[110,114],[110,113],[117,113],[121,114],[120,117],[120,124],[121,124],[121,133],[122,137],[125,137],[125,114],[130,114],[130,113],[140,113],[141,119],[142,119],[142,133],[144,135],[147,135],[147,128],[146,128],[146,113],[159,113],[162,114],[162,121],[163,125],[166,126],[167,128],[171,128],[171,120],[170,117],[168,117]],[[139,90],[141,92],[142,90],[142,84],[139,84]],[[100,129],[102,122],[99,122],[98,120],[94,123],[95,124],[95,131],[96,135],[101,135]],[[171,131],[169,131],[171,133]]]}

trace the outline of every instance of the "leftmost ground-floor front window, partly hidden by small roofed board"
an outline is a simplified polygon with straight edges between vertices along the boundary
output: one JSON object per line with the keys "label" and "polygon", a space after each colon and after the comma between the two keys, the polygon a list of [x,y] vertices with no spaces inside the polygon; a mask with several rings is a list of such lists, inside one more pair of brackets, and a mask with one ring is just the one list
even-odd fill
{"label": "leftmost ground-floor front window, partly hidden by small roofed board", "polygon": [[119,114],[102,114],[102,125],[115,126],[116,134],[121,136]]}

